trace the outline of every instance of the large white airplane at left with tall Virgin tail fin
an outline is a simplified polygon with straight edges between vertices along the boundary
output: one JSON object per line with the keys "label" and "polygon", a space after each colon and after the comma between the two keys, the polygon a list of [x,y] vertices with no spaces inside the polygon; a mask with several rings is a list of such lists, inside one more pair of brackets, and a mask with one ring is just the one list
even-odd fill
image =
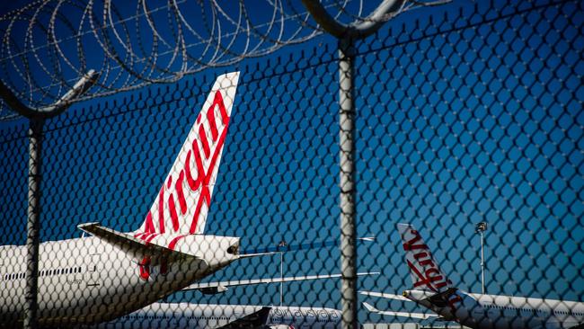
{"label": "large white airplane at left with tall Virgin tail fin", "polygon": [[[40,325],[127,315],[242,257],[239,237],[203,235],[239,72],[218,76],[142,226],[40,244]],[[185,118],[185,120],[187,120]],[[0,325],[22,322],[26,249],[0,247]]]}

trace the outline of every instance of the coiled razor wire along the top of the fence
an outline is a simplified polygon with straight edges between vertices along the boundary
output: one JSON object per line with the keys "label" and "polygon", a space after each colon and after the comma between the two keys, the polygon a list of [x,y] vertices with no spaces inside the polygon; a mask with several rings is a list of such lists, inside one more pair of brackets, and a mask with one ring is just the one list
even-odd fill
{"label": "coiled razor wire along the top of the fence", "polygon": [[[430,3],[403,1],[402,10],[420,4]],[[376,4],[323,5],[339,22],[366,22]],[[41,107],[90,69],[99,81],[76,101],[173,83],[322,33],[299,1],[169,0],[154,6],[146,0],[38,0],[0,17],[0,79],[23,103]],[[16,117],[0,102],[0,120]]]}

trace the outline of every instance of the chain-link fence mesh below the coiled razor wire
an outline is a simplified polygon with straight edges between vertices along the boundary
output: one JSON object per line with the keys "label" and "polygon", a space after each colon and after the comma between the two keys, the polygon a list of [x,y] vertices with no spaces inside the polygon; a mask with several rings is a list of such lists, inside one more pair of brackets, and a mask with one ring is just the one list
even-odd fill
{"label": "chain-link fence mesh below the coiled razor wire", "polygon": [[[414,17],[356,44],[359,324],[581,327],[584,4]],[[46,121],[41,326],[340,326],[338,58],[320,42]],[[13,327],[28,123],[1,128]]]}

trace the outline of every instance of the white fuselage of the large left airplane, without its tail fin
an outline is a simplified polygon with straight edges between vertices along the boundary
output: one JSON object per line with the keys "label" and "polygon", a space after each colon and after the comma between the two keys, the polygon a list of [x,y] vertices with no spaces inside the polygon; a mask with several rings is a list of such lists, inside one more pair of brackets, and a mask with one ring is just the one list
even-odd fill
{"label": "white fuselage of the large left airplane, without its tail fin", "polygon": [[[196,257],[170,262],[164,273],[161,266],[140,265],[142,256],[131,250],[93,236],[42,243],[39,322],[92,324],[126,315],[233,262],[237,256],[225,250],[238,241],[225,236],[187,236],[176,250]],[[25,247],[0,246],[0,326],[22,321],[25,272]]]}

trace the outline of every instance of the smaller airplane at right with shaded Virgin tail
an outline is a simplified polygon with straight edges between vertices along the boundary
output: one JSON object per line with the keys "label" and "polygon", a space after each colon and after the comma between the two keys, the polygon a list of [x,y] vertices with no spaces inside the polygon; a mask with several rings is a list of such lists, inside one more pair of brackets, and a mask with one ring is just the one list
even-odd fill
{"label": "smaller airplane at right with shaded Virgin tail", "polygon": [[[361,294],[411,300],[429,308],[436,313],[434,316],[439,316],[442,320],[456,321],[471,328],[584,328],[582,302],[473,294],[457,289],[438,268],[438,262],[432,257],[420,233],[406,224],[398,224],[398,229],[402,236],[413,289],[403,291],[403,297],[368,291]],[[398,315],[392,311],[379,311],[368,304],[366,307],[382,315],[420,319],[431,316],[416,313]]]}

